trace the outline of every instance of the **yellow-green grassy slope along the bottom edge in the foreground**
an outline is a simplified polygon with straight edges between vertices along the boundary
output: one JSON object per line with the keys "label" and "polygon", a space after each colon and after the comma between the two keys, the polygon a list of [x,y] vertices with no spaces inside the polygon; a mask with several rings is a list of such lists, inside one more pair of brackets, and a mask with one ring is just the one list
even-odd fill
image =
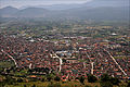
{"label": "yellow-green grassy slope along the bottom edge in the foreground", "polygon": [[30,82],[30,83],[16,83],[14,85],[6,85],[5,87],[100,87],[100,83],[88,83],[84,80],[84,85],[82,85],[78,80],[72,82]]}

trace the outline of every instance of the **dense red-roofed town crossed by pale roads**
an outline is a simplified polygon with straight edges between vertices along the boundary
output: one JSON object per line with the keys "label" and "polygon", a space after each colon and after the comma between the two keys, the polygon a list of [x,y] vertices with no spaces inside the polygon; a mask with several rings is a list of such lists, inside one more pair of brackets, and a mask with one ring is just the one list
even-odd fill
{"label": "dense red-roofed town crossed by pale roads", "polygon": [[[63,37],[61,39],[60,41],[39,38],[27,40],[24,37],[1,35],[0,60],[12,61],[20,69],[48,67],[48,73],[61,72],[62,76],[76,77],[93,74],[100,77],[108,73],[114,77],[130,77],[129,45],[112,44],[102,38],[90,37]],[[44,72],[39,73],[44,74]]]}

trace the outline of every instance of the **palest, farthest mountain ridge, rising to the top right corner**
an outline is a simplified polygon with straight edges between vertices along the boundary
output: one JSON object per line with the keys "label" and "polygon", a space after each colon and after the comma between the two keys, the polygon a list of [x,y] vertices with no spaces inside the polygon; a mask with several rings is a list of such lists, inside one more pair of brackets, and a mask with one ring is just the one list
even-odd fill
{"label": "palest, farthest mountain ridge, rising to the top right corner", "polygon": [[[83,4],[52,4],[52,5],[35,5],[34,8],[43,8],[48,10],[68,10],[74,8],[100,8],[100,7],[128,7],[130,1],[129,0],[92,0],[86,2]],[[25,8],[32,8],[32,7],[23,7]]]}

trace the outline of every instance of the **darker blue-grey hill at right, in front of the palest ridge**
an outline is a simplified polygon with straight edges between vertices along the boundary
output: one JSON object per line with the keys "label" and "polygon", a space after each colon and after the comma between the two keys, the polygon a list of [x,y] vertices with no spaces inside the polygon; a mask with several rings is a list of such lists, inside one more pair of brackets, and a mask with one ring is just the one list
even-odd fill
{"label": "darker blue-grey hill at right, in front of the palest ridge", "polygon": [[69,14],[82,20],[125,21],[125,20],[129,20],[129,7],[120,7],[120,8],[104,7],[104,8],[92,8],[92,9],[80,8],[77,10],[70,10]]}

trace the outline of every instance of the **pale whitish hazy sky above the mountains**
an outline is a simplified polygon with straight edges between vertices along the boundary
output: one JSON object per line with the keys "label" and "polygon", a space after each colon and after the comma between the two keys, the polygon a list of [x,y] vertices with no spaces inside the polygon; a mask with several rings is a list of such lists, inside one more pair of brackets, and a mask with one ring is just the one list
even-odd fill
{"label": "pale whitish hazy sky above the mountains", "polygon": [[8,7],[8,5],[21,8],[26,5],[84,3],[87,1],[91,1],[91,0],[0,0],[0,8]]}

